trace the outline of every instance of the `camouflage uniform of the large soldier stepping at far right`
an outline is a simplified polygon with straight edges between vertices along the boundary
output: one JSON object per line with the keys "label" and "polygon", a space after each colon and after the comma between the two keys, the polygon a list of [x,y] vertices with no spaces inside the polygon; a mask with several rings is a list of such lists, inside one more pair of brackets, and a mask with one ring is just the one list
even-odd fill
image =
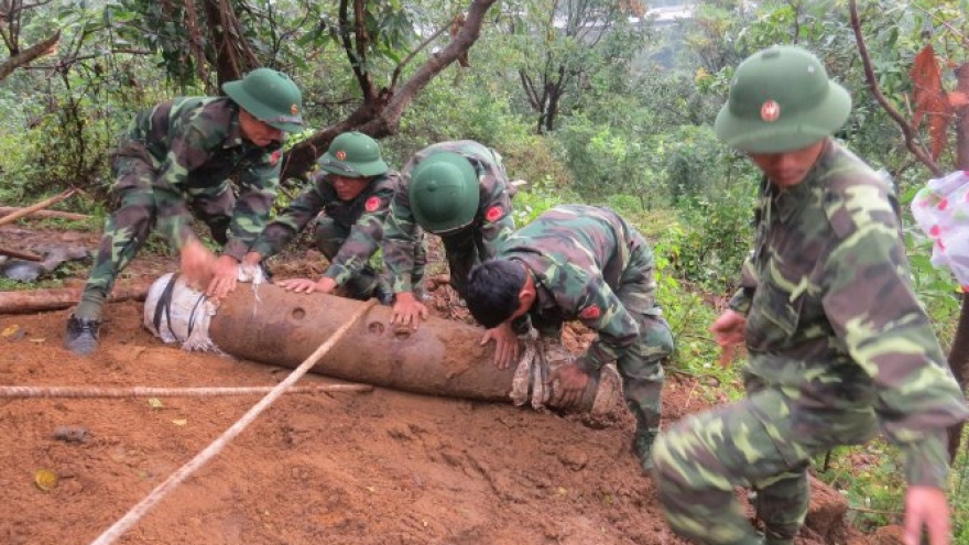
{"label": "camouflage uniform of the large soldier stepping at far right", "polygon": [[667,520],[697,543],[762,543],[734,498],[744,486],[759,491],[765,543],[792,544],[812,456],[879,425],[910,486],[946,483],[946,427],[967,408],[910,285],[897,203],[861,160],[826,145],[803,182],[762,188],[730,303],[747,315],[747,399],[684,418],[654,448]]}

